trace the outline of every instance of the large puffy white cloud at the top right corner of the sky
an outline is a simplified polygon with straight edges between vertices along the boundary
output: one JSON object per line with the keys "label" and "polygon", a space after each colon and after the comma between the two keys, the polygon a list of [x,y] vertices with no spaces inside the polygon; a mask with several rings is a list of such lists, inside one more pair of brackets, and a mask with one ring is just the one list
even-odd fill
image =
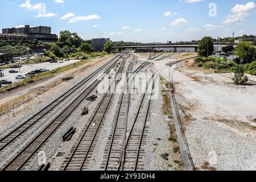
{"label": "large puffy white cloud at the top right corner of the sky", "polygon": [[246,17],[251,14],[253,10],[256,9],[254,2],[246,3],[245,5],[237,4],[231,10],[232,14],[226,16],[223,23],[237,23],[241,24],[246,21]]}

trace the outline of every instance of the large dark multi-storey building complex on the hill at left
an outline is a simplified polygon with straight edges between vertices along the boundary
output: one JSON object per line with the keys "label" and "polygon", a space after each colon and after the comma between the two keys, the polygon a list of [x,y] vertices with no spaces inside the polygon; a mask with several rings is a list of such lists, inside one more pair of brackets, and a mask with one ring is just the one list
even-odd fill
{"label": "large dark multi-storey building complex on the hill at left", "polygon": [[[14,27],[3,28],[2,34],[27,35],[29,40],[36,39],[36,40],[49,41],[49,42],[56,42],[58,39],[58,36],[56,34],[51,34],[51,27],[46,27],[46,26],[30,27],[29,25],[25,25],[24,27],[20,27],[20,28],[14,28]],[[18,36],[18,35],[15,35],[15,36]],[[4,39],[1,39],[1,40],[4,40]]]}

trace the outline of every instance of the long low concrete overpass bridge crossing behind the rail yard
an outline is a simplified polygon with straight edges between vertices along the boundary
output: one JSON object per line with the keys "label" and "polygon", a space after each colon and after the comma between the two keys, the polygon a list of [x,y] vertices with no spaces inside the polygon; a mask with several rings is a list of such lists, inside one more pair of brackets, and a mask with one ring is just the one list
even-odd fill
{"label": "long low concrete overpass bridge crossing behind the rail yard", "polygon": [[[224,47],[224,45],[214,45],[214,48],[217,49],[218,48],[221,48],[221,47]],[[187,45],[187,44],[184,44],[184,45],[171,45],[171,44],[162,44],[162,45],[142,45],[142,46],[113,46],[112,49],[119,49],[119,51],[124,51],[124,50],[127,50],[127,49],[130,49],[130,51],[132,52],[143,52],[143,51],[146,51],[146,52],[155,52],[157,51],[158,49],[164,49],[164,48],[173,48],[174,49],[174,52],[178,52],[177,50],[178,49],[184,49],[184,48],[190,48],[192,49],[194,52],[197,52],[197,49],[198,49],[198,44],[192,44],[192,45]],[[192,51],[192,52],[193,52]]]}

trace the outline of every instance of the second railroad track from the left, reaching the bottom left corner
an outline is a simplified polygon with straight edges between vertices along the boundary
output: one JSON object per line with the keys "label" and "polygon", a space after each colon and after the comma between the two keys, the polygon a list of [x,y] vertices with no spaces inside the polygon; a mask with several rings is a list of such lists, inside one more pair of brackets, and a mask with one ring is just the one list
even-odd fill
{"label": "second railroad track from the left, reaching the bottom left corner", "polygon": [[[117,62],[122,59],[124,55],[125,54],[119,57],[116,61],[114,61],[114,63],[111,63],[111,66],[106,69],[104,73],[108,74],[110,69],[115,68]],[[14,171],[23,169],[23,167],[25,167],[26,164],[33,159],[36,152],[38,152],[39,149],[47,143],[48,139],[52,137],[52,135],[63,125],[65,121],[67,121],[73,111],[76,110],[81,102],[93,92],[100,82],[101,80],[90,82],[89,86],[79,95],[79,97],[72,101],[64,111],[61,111],[61,113],[57,115],[57,117],[53,119],[53,121],[51,121],[47,127],[41,131],[30,143],[28,143],[18,155],[7,163],[2,170]]]}

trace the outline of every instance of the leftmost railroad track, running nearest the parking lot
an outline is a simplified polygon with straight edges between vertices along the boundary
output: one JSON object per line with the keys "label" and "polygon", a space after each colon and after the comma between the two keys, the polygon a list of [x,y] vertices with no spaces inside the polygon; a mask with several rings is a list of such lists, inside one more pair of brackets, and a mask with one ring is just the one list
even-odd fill
{"label": "leftmost railroad track, running nearest the parking lot", "polygon": [[28,119],[26,122],[23,122],[22,125],[16,127],[13,131],[11,131],[9,134],[5,135],[5,137],[0,139],[0,151],[5,149],[6,147],[9,147],[11,143],[15,142],[16,139],[21,137],[22,135],[26,134],[28,130],[30,130],[33,126],[35,126],[37,123],[42,121],[44,117],[46,117],[48,114],[51,114],[57,106],[59,106],[61,103],[67,100],[72,100],[73,98],[72,93],[79,91],[83,86],[85,86],[88,81],[93,78],[94,76],[98,75],[102,69],[106,69],[114,60],[116,60],[118,56],[115,56],[112,60],[110,60],[107,64],[103,65],[101,68],[98,68],[96,72],[94,72],[92,75],[86,77],[84,80],[73,86],[73,88],[69,89],[67,92],[65,92],[63,95],[58,97],[55,101],[51,102],[51,104],[44,107],[42,110],[40,110],[38,113],[33,115],[30,119]]}

